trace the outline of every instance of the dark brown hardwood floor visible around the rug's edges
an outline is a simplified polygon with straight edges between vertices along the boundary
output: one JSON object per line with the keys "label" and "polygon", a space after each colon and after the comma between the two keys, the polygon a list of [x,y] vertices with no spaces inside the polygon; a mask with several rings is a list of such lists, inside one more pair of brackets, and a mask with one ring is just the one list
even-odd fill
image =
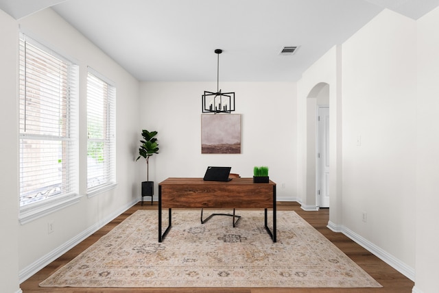
{"label": "dark brown hardwood floor visible around the rug's edges", "polygon": [[21,283],[21,290],[23,293],[33,292],[68,292],[68,293],[84,293],[84,292],[147,292],[147,293],[163,293],[163,292],[179,292],[179,293],[309,293],[309,292],[321,292],[321,293],[343,293],[343,292],[364,292],[364,293],[411,293],[414,283],[404,277],[401,273],[394,270],[385,262],[382,262],[378,257],[372,255],[366,249],[347,238],[342,233],[334,233],[327,228],[329,220],[329,209],[320,209],[318,212],[305,212],[300,208],[298,203],[278,203],[278,210],[294,210],[302,218],[307,220],[314,228],[322,233],[326,238],[331,240],[340,250],[342,250],[348,257],[351,257],[361,268],[366,270],[369,275],[376,279],[383,288],[40,288],[38,283],[43,281],[53,272],[58,270],[64,264],[67,264],[71,259],[76,257],[88,246],[95,243],[102,235],[105,235],[112,228],[117,226],[120,222],[130,216],[137,209],[157,209],[157,203],[153,206],[145,203],[143,206],[138,203],[131,207],[126,212],[112,220],[108,225],[99,229],[96,233],[82,241],[77,246],[73,247],[67,253],[60,256],[51,264],[37,272],[34,276],[30,277],[23,283]]}

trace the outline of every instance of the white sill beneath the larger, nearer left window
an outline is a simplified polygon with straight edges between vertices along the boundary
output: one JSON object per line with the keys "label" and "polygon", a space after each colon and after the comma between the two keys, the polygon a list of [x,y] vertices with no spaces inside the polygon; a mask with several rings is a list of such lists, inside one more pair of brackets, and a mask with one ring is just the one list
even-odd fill
{"label": "white sill beneath the larger, nearer left window", "polygon": [[36,220],[53,212],[56,212],[64,207],[78,203],[81,199],[79,194],[66,194],[64,196],[57,196],[54,199],[47,199],[40,203],[33,203],[25,205],[20,208],[19,220],[20,224],[24,225],[27,222]]}

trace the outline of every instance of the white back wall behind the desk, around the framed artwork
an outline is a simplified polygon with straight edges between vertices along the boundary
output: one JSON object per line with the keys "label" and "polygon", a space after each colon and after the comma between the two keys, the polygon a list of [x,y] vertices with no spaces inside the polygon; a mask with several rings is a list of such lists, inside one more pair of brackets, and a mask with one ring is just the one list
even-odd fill
{"label": "white back wall behind the desk, around the framed artwork", "polygon": [[[216,86],[209,82],[141,84],[139,138],[141,129],[156,130],[160,148],[150,159],[150,180],[203,177],[207,166],[231,166],[232,173],[252,177],[254,166],[268,166],[270,179],[278,184],[278,200],[296,199],[296,84],[220,82],[223,92],[235,92],[233,113],[241,114],[241,154],[202,154],[201,95]],[[155,188],[157,194],[157,184]]]}

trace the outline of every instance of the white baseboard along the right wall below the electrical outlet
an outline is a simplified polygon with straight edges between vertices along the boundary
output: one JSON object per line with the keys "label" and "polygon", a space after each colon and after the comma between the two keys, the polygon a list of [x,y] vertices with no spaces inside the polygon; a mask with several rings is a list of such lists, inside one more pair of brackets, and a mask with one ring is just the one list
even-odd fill
{"label": "white baseboard along the right wall below the electrical outlet", "polygon": [[358,235],[357,233],[351,231],[350,229],[344,227],[343,225],[335,225],[333,222],[329,221],[327,227],[334,232],[343,233],[348,238],[351,238],[351,240],[357,242],[357,244],[363,246],[364,249],[367,249],[370,253],[379,257],[379,259],[381,259],[383,262],[385,262],[389,266],[392,266],[392,268],[394,268],[395,270],[401,272],[401,274],[403,274],[405,277],[414,281],[414,277],[415,277],[414,268],[412,268],[411,266],[407,266],[407,264],[401,262],[401,260],[397,259],[387,251],[384,251],[379,246],[366,240],[365,238],[361,237],[361,235]]}

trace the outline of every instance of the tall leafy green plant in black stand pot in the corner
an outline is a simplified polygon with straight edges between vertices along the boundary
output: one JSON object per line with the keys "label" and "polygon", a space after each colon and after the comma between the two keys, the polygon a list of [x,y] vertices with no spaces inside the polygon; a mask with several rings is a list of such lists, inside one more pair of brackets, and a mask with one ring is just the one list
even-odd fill
{"label": "tall leafy green plant in black stand pot in the corner", "polygon": [[150,157],[154,155],[154,153],[158,153],[158,144],[157,138],[154,136],[157,135],[157,131],[147,131],[146,129],[142,130],[143,140],[141,140],[141,146],[139,147],[139,157],[137,157],[136,161],[140,159],[140,157],[144,157],[146,160],[146,181],[142,182],[142,205],[143,205],[143,196],[151,196],[151,205],[152,205],[152,196],[154,195],[154,181],[150,181]]}

